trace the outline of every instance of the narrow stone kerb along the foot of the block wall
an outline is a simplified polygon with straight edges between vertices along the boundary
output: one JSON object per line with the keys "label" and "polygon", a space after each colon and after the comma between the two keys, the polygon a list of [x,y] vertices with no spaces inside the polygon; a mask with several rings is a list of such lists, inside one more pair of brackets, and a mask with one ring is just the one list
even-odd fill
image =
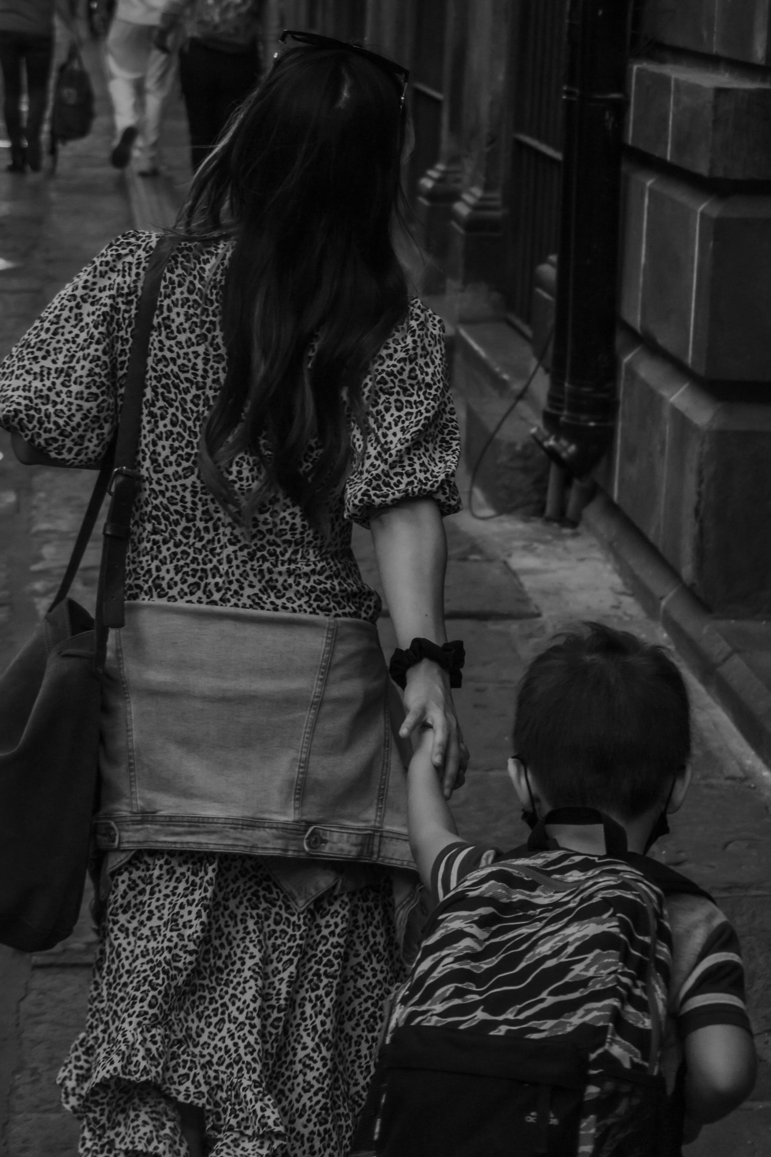
{"label": "narrow stone kerb along the foot of the block wall", "polygon": [[[584,510],[584,523],[610,551],[632,594],[667,632],[685,665],[771,764],[771,692],[724,639],[704,604],[602,491]],[[757,786],[771,791],[771,773]]]}

